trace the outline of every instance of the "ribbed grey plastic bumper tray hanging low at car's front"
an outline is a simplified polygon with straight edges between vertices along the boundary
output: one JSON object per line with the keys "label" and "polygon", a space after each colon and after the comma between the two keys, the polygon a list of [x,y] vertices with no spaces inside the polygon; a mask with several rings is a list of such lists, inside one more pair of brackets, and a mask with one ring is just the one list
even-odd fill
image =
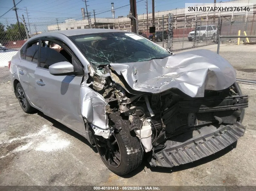
{"label": "ribbed grey plastic bumper tray hanging low at car's front", "polygon": [[167,140],[167,147],[155,153],[149,164],[174,167],[199,160],[228,147],[243,136],[244,132],[245,127],[238,122],[234,125],[221,125],[218,128],[205,126],[199,130],[186,132]]}

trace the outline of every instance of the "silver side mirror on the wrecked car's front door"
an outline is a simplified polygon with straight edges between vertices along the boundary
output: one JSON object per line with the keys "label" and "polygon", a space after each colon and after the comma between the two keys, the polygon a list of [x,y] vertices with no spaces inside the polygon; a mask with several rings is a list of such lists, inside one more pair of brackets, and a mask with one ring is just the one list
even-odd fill
{"label": "silver side mirror on the wrecked car's front door", "polygon": [[52,75],[68,75],[67,73],[74,72],[74,66],[67,62],[58,62],[49,66],[49,72]]}

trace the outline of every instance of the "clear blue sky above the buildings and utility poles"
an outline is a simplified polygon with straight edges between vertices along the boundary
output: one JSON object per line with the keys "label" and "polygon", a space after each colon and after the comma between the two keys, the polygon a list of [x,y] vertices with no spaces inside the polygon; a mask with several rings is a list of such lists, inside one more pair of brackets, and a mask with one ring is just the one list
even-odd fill
{"label": "clear blue sky above the buildings and utility poles", "polygon": [[[56,23],[64,21],[67,18],[81,18],[81,8],[85,8],[85,2],[81,0],[15,0],[18,4],[18,16],[22,17],[24,14],[27,21],[25,7],[28,9],[30,23]],[[146,13],[146,0],[137,0],[137,14]],[[95,14],[97,18],[111,18],[111,2],[114,3],[115,17],[126,17],[130,11],[129,0],[88,0],[88,12]],[[214,0],[155,0],[155,12],[171,10],[175,8],[185,7],[185,3],[213,3]],[[217,0],[220,2],[220,0]],[[125,6],[128,5],[128,6]],[[122,7],[125,6],[125,7]],[[0,16],[13,7],[12,0],[0,0]],[[119,8],[122,7],[122,8]],[[108,11],[108,12],[105,12]],[[105,12],[105,13],[102,13]],[[152,0],[148,0],[148,12],[152,12]],[[93,15],[91,16],[93,17]],[[19,18],[21,21],[21,19]],[[0,18],[3,24],[11,24],[16,22],[15,11],[11,10]]]}

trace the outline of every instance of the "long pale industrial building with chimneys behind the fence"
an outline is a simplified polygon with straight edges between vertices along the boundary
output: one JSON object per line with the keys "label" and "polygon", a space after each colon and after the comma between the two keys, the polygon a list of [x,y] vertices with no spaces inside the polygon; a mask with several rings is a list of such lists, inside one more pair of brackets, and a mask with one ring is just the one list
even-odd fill
{"label": "long pale industrial building with chimneys behind the fence", "polygon": [[[236,18],[243,18],[244,21],[253,20],[256,11],[256,4],[253,0],[235,0],[229,2],[218,2],[215,7],[223,6],[225,3],[254,3],[254,12],[251,11],[250,14],[248,12],[244,12],[244,15],[235,15],[230,12],[208,12],[208,11],[198,11],[193,14],[186,14],[186,8],[176,8],[168,11],[158,11],[155,12],[155,26],[156,30],[166,30],[168,27],[168,14],[171,13],[175,18],[173,27],[175,29],[178,28],[194,28],[194,23],[196,19],[206,22],[207,24],[216,24],[218,18],[226,17],[230,21],[233,21]],[[214,4],[206,4],[207,6],[214,6]],[[206,6],[204,5],[204,6]],[[201,7],[202,5],[198,5]],[[91,26],[93,28],[110,28],[110,29],[118,29],[118,30],[131,30],[131,19],[127,18],[126,15],[124,17],[115,18],[115,9],[114,3],[111,3],[111,14],[112,18],[91,18]],[[68,30],[68,29],[81,29],[81,28],[89,28],[90,24],[85,15],[84,8],[82,10],[82,18],[83,20],[75,20],[75,19],[67,19],[63,23],[59,23],[58,25],[48,25],[48,31],[54,30]],[[253,12],[253,15],[252,15]],[[128,13],[127,13],[128,14]],[[148,26],[152,25],[152,13],[148,14],[139,14],[137,15],[138,20],[138,30],[141,32],[148,33]],[[186,21],[186,22],[184,22]],[[187,22],[188,21],[188,22]],[[189,22],[191,21],[191,22]],[[184,24],[185,23],[185,24]],[[164,26],[164,29],[163,29]]]}

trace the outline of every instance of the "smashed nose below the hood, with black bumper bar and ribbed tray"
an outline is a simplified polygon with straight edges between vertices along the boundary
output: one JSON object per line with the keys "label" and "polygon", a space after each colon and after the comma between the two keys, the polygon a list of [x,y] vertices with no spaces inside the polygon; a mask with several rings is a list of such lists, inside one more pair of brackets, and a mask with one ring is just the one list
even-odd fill
{"label": "smashed nose below the hood, with black bumper bar and ribbed tray", "polygon": [[[200,98],[176,89],[119,104],[123,118],[130,121],[131,131],[141,139],[144,150],[152,151],[150,165],[159,167],[189,163],[237,141],[245,132],[241,122],[246,107],[248,96],[241,95],[237,83],[222,91],[205,91]],[[146,135],[145,122],[151,127]],[[143,143],[148,136],[152,145]]]}

